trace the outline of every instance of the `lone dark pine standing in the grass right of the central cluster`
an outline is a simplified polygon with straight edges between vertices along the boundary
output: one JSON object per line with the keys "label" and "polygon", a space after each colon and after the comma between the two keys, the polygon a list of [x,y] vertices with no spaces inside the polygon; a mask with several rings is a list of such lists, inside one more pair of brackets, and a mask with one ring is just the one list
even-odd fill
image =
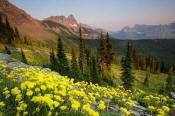
{"label": "lone dark pine standing in the grass right of the central cluster", "polygon": [[125,57],[122,58],[121,80],[123,81],[123,86],[126,89],[131,89],[133,87],[135,77],[132,75],[132,60],[131,60],[129,42],[128,42],[128,46],[127,46],[126,55],[125,55]]}

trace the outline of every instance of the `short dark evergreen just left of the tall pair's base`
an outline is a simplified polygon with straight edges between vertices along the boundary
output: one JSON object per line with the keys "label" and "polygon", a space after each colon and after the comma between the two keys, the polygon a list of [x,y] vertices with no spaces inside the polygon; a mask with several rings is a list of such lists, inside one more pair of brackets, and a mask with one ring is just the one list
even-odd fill
{"label": "short dark evergreen just left of the tall pair's base", "polygon": [[101,80],[98,72],[97,60],[95,56],[92,56],[91,78],[93,83],[101,84]]}

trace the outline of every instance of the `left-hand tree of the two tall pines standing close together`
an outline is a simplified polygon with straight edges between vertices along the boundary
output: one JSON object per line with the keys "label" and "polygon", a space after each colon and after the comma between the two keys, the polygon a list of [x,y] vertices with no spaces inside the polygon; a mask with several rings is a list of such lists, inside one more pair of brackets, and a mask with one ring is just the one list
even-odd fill
{"label": "left-hand tree of the two tall pines standing close together", "polygon": [[100,42],[99,42],[99,48],[98,48],[98,59],[99,59],[99,72],[100,76],[104,78],[105,76],[105,70],[106,70],[106,65],[105,65],[105,44],[104,44],[104,37],[101,32],[100,36]]}

